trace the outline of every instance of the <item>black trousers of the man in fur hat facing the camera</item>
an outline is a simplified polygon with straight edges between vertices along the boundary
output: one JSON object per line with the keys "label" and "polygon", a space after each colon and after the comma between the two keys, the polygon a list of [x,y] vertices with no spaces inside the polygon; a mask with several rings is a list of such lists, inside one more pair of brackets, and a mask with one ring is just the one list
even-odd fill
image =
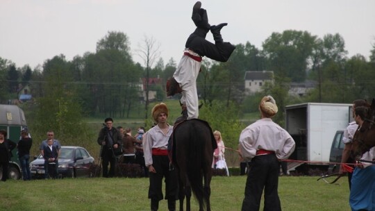
{"label": "black trousers of the man in fur hat facing the camera", "polygon": [[152,155],[152,166],[156,173],[149,172],[149,199],[153,201],[163,200],[163,178],[165,178],[165,199],[178,199],[177,170],[169,168],[167,155]]}

